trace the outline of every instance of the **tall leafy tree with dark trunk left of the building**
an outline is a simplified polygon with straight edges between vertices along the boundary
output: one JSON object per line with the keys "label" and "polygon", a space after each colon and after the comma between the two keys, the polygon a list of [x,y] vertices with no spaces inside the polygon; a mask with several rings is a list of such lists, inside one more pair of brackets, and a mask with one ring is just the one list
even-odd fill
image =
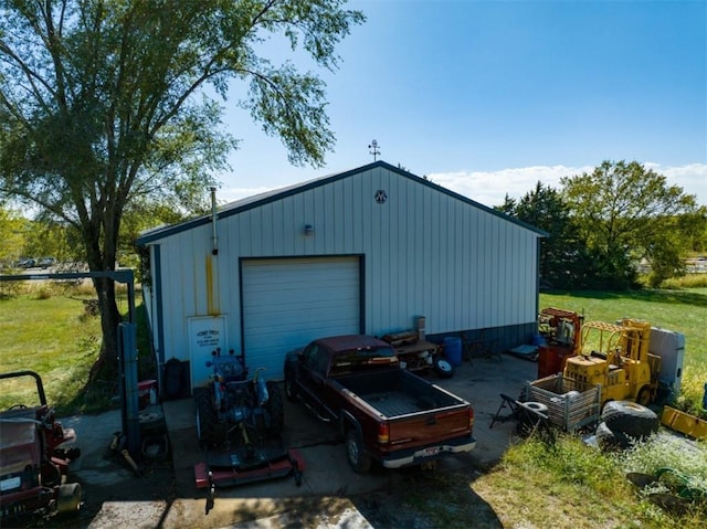
{"label": "tall leafy tree with dark trunk left of the building", "polygon": [[[222,104],[208,94],[225,100],[233,82],[247,84],[239,103],[283,140],[293,163],[323,165],[334,141],[323,81],[261,51],[279,35],[334,70],[336,45],[363,21],[345,3],[1,1],[0,198],[73,226],[89,269],[113,269],[135,200],[181,209],[205,200],[235,147]],[[113,282],[94,284],[99,367],[116,358],[120,318]]]}

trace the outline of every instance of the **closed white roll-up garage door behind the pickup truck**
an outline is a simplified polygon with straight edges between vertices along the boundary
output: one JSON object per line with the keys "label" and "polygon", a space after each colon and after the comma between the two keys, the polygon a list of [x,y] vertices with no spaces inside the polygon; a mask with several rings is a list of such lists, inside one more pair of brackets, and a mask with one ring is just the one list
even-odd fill
{"label": "closed white roll-up garage door behind the pickup truck", "polygon": [[358,257],[243,262],[243,337],[251,373],[283,378],[285,353],[324,336],[360,331]]}

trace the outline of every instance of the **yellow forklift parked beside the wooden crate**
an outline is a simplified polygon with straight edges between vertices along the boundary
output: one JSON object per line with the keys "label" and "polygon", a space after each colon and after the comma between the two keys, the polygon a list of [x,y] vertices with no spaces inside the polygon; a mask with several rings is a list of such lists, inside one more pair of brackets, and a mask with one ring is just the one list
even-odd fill
{"label": "yellow forklift parked beside the wooden crate", "polygon": [[624,318],[620,325],[590,321],[582,327],[581,353],[569,357],[563,377],[579,385],[601,385],[608,401],[655,400],[661,357],[648,353],[651,324]]}

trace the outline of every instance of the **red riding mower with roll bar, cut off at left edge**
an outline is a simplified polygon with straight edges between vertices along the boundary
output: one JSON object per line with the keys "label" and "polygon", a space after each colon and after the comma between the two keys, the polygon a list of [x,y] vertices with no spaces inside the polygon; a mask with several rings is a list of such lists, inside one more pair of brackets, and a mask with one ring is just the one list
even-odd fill
{"label": "red riding mower with roll bar, cut off at left edge", "polygon": [[65,483],[68,464],[81,455],[76,435],[46,405],[42,379],[34,371],[0,374],[0,380],[31,377],[39,405],[14,404],[0,412],[0,526],[32,515],[70,515],[81,508],[81,485]]}

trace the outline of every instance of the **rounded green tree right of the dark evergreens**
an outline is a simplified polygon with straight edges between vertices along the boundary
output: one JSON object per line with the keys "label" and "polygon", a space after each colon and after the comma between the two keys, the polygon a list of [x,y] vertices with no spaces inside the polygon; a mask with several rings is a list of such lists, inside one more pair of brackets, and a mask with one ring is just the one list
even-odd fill
{"label": "rounded green tree right of the dark evergreens", "polygon": [[603,161],[561,183],[590,252],[594,286],[631,286],[642,260],[651,264],[654,284],[679,273],[690,232],[704,222],[695,195],[637,161]]}

